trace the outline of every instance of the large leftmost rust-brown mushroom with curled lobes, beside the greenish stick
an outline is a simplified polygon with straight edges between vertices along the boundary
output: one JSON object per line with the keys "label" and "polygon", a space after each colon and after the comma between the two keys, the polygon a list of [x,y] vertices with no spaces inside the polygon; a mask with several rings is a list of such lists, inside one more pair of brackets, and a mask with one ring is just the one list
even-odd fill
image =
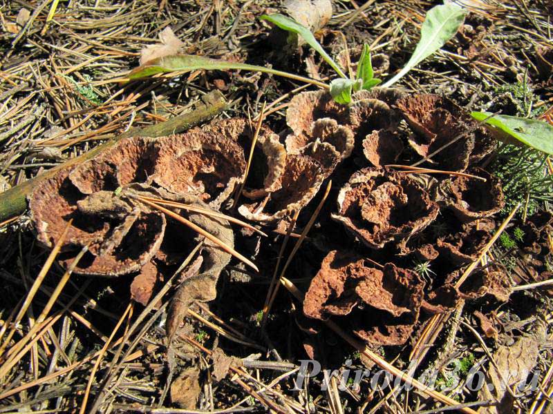
{"label": "large leftmost rust-brown mushroom with curled lobes, beside the greenish stick", "polygon": [[[179,143],[179,139],[182,142]],[[69,266],[77,251],[88,246],[88,253],[75,268],[76,273],[115,277],[139,271],[154,256],[158,257],[167,220],[165,215],[152,210],[137,197],[153,196],[209,208],[195,194],[175,194],[151,186],[153,180],[166,183],[164,179],[170,173],[178,175],[176,170],[165,170],[160,179],[156,173],[158,163],[162,159],[167,166],[167,154],[175,148],[189,148],[186,144],[190,140],[186,135],[155,141],[123,139],[100,157],[60,170],[54,177],[41,181],[30,195],[29,203],[39,242],[52,247],[72,219],[62,246],[62,251],[66,252],[60,257],[62,264]],[[190,165],[185,165],[189,168],[187,172],[193,175]],[[176,166],[171,164],[170,168]],[[174,190],[173,181],[169,180],[167,186]],[[189,215],[189,219],[194,221],[201,217]],[[182,245],[180,249],[182,257],[186,252],[182,251]]]}

